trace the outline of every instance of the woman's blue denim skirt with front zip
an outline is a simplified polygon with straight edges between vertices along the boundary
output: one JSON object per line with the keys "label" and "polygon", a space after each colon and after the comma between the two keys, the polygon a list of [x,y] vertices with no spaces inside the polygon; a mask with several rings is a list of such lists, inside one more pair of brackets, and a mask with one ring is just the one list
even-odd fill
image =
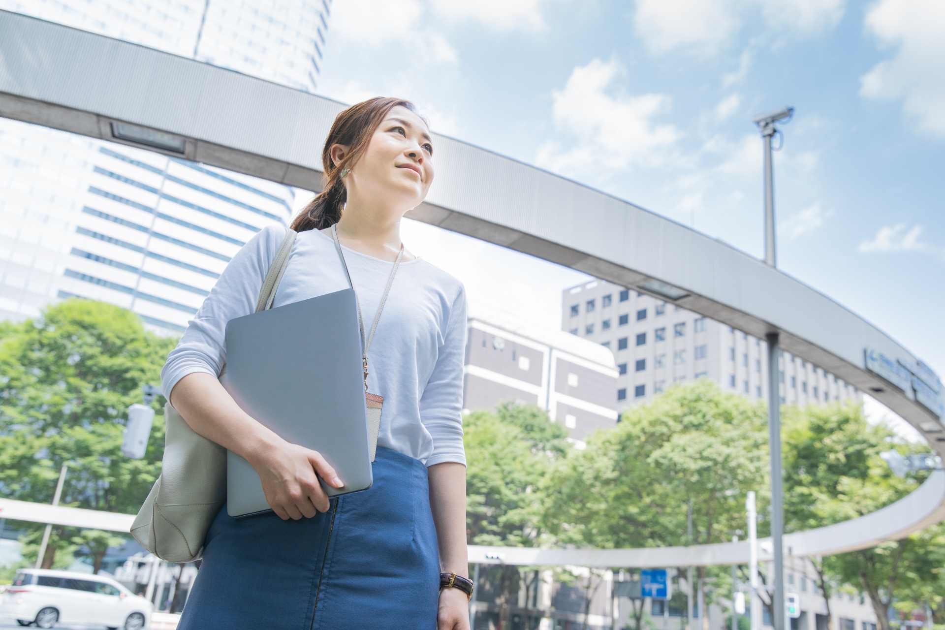
{"label": "woman's blue denim skirt with front zip", "polygon": [[312,519],[233,519],[224,506],[180,630],[436,630],[439,553],[426,467],[378,447],[373,478]]}

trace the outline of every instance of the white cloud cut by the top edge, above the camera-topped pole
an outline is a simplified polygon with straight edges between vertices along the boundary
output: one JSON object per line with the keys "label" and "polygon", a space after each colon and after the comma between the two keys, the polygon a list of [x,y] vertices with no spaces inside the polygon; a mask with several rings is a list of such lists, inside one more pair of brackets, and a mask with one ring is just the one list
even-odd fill
{"label": "white cloud cut by the top edge, above the camera-topped pole", "polygon": [[745,18],[758,10],[768,28],[808,35],[836,26],[845,5],[846,0],[637,0],[634,27],[652,52],[691,47],[713,54],[734,43]]}

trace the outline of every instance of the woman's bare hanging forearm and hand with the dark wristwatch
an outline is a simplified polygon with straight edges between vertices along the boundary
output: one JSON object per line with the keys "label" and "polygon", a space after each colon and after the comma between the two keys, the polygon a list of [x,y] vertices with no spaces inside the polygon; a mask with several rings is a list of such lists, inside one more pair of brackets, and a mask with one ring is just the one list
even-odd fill
{"label": "woman's bare hanging forearm and hand with the dark wristwatch", "polygon": [[[466,467],[443,462],[427,468],[430,477],[430,511],[437,528],[439,567],[445,573],[469,577],[466,552]],[[438,630],[469,630],[466,593],[458,588],[439,591]]]}

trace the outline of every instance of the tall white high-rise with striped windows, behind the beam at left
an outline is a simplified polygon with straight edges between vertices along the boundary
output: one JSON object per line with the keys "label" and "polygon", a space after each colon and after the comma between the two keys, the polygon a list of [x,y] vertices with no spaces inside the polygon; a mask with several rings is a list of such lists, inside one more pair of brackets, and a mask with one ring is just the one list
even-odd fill
{"label": "tall white high-rise with striped windows, behind the beam at left", "polygon": [[[316,88],[330,5],[0,0],[0,9],[307,92]],[[77,296],[180,333],[236,250],[268,225],[288,225],[298,205],[290,187],[160,150],[0,118],[0,318],[39,315]]]}

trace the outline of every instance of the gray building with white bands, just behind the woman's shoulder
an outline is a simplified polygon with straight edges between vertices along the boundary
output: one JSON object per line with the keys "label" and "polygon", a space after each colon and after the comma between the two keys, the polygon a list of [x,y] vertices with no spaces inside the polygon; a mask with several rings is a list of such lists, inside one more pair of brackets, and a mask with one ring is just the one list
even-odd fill
{"label": "gray building with white bands, just behind the woman's shoulder", "polygon": [[471,311],[464,368],[465,411],[505,400],[537,404],[578,444],[617,422],[617,368],[599,344],[512,315]]}

